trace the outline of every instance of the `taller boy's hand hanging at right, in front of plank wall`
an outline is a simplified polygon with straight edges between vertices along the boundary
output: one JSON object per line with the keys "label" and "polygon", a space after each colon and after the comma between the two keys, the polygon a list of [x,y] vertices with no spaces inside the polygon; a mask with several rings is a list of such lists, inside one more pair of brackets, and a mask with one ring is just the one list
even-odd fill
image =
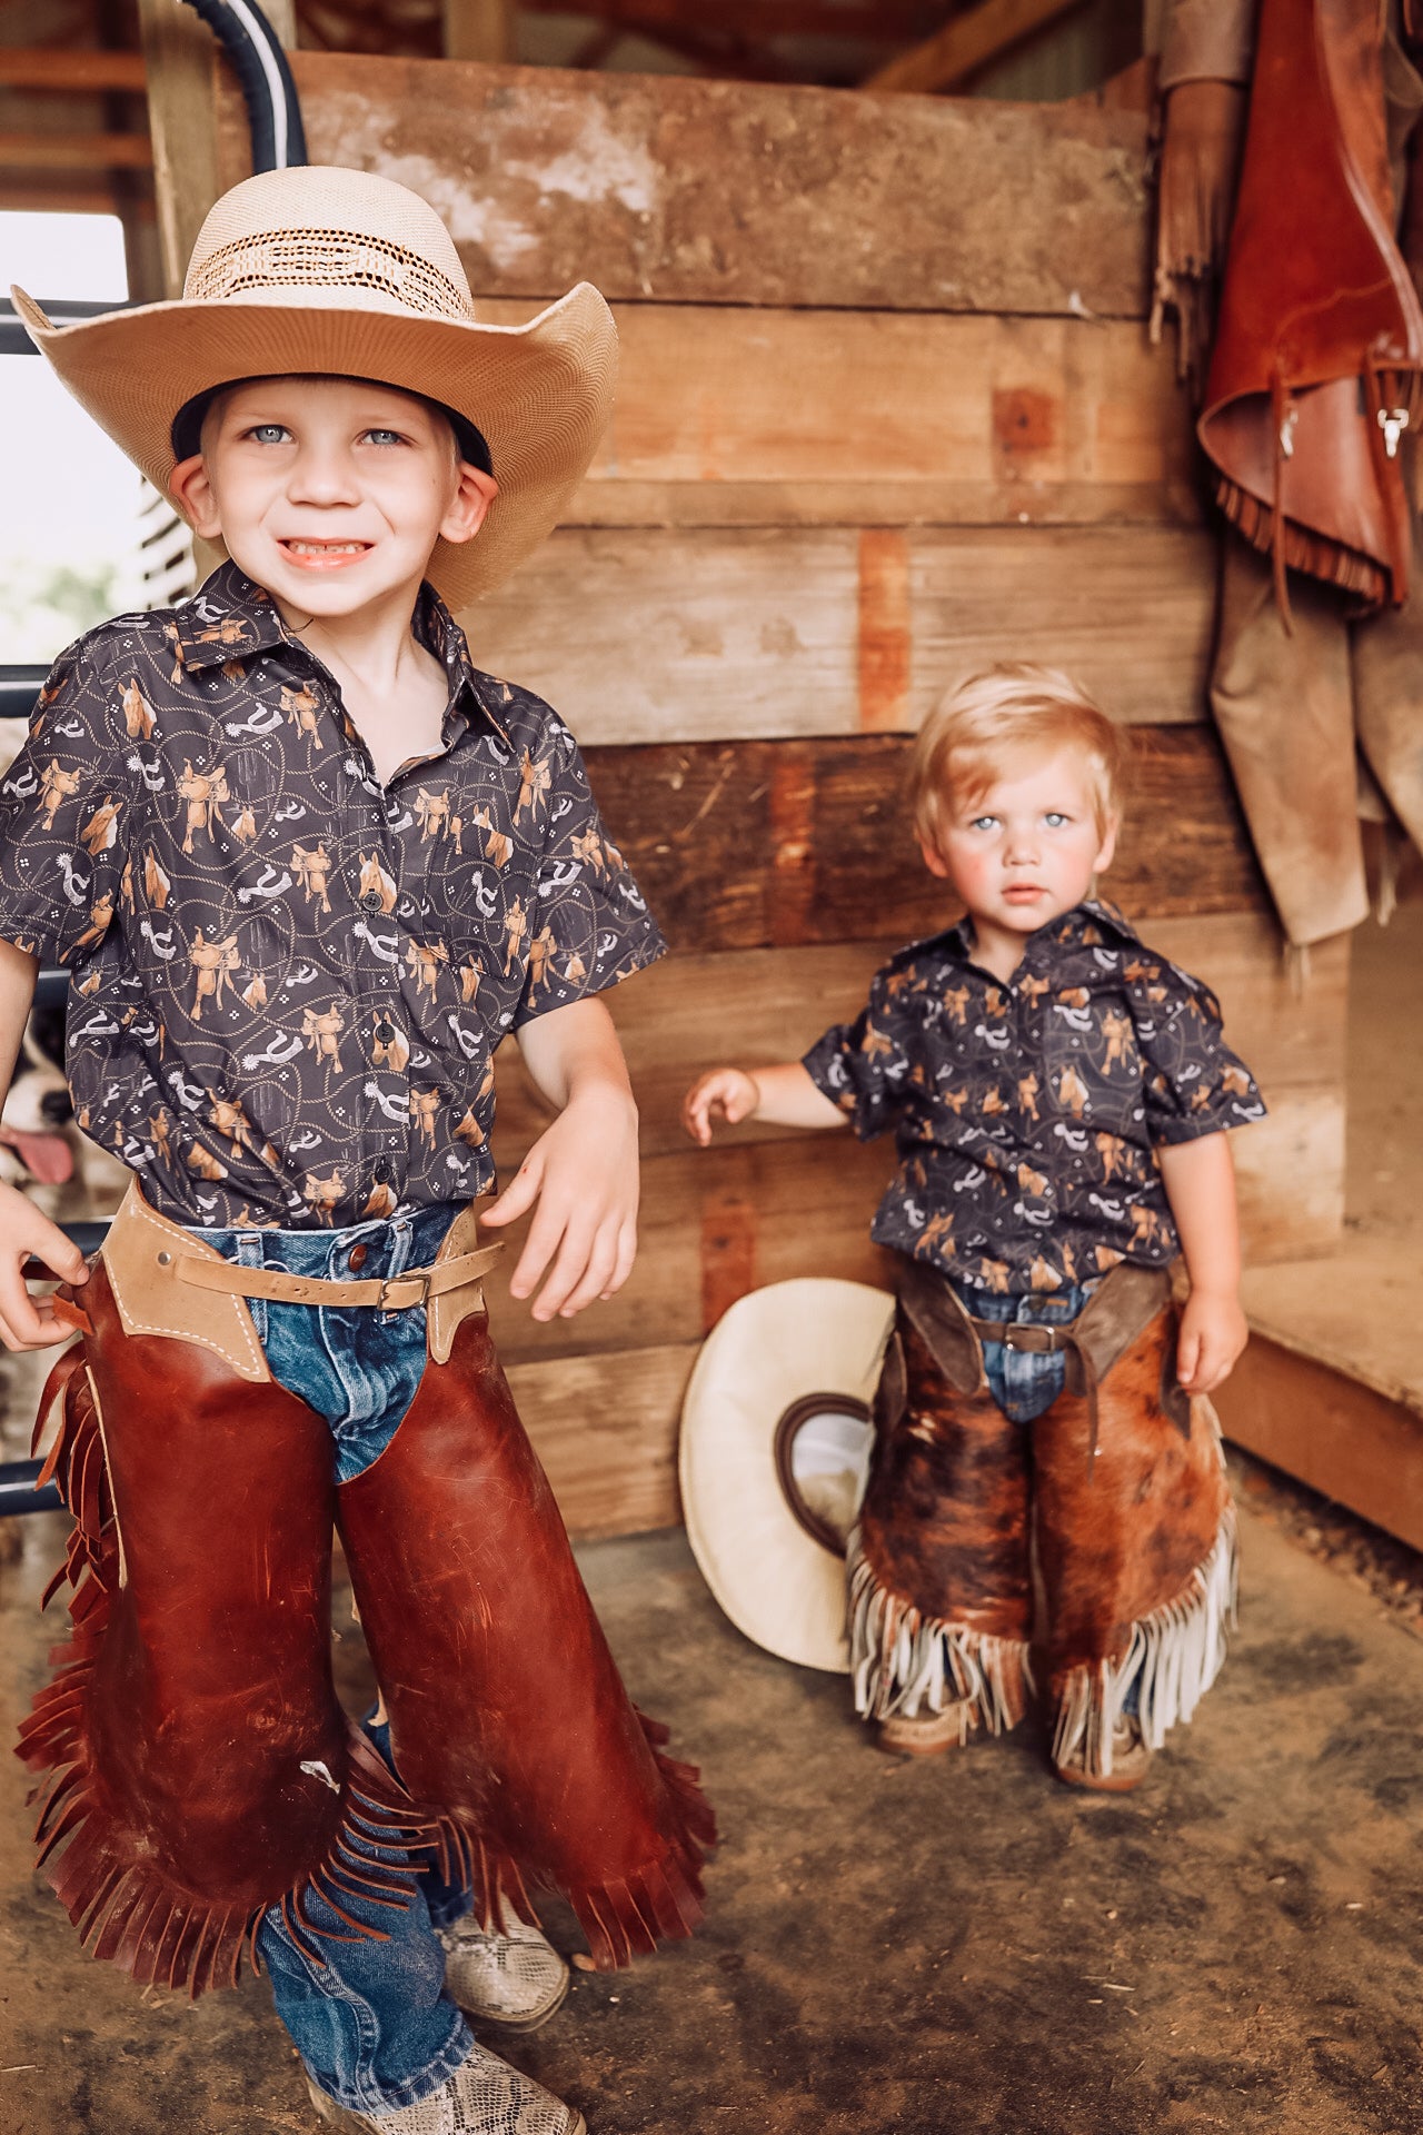
{"label": "taller boy's hand hanging at right, in front of plank wall", "polygon": [[572,1319],[621,1290],[638,1253],[638,1108],[625,1091],[574,1095],[480,1221],[512,1223],[535,1202],[510,1296],[527,1298],[553,1262],[533,1317]]}

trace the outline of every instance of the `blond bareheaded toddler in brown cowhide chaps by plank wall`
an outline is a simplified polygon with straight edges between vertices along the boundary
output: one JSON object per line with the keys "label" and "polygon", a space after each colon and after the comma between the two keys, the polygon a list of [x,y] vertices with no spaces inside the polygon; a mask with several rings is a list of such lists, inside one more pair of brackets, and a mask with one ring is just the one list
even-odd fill
{"label": "blond bareheaded toddler in brown cowhide chaps by plank wall", "polygon": [[1054,1768],[1105,1789],[1141,1778],[1225,1655],[1205,1396],[1246,1322],[1222,1129],[1263,1112],[1212,993],[1092,895],[1120,784],[1118,730],[1065,675],[966,681],[911,769],[924,863],[966,916],[804,1061],[717,1068],[685,1106],[698,1142],[715,1117],[898,1142],[873,1225],[900,1302],[851,1537],[858,1710],[917,1755],[1016,1725],[1037,1571]]}

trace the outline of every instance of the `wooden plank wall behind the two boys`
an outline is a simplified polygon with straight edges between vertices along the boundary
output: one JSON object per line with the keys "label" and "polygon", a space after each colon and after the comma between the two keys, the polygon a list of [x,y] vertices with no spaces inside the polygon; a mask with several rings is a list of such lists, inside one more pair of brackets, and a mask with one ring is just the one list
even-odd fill
{"label": "wooden plank wall behind the two boys", "polygon": [[[476,660],[570,719],[674,956],[612,995],[644,1121],[617,1300],[501,1349],[570,1524],[676,1518],[706,1328],[755,1283],[883,1279],[892,1155],[681,1134],[706,1063],[804,1048],[949,914],[907,835],[909,734],[971,668],[1037,658],[1131,724],[1112,890],[1220,993],[1272,1117],[1237,1138],[1250,1251],[1342,1225],[1346,948],[1286,982],[1205,724],[1214,538],[1146,339],[1146,124],[1090,102],[862,98],[297,53],[314,160],[414,186],[486,316],[574,280],[623,344],[572,523],[469,613]],[[243,126],[220,105],[226,179]],[[501,1166],[542,1110],[499,1057]]]}

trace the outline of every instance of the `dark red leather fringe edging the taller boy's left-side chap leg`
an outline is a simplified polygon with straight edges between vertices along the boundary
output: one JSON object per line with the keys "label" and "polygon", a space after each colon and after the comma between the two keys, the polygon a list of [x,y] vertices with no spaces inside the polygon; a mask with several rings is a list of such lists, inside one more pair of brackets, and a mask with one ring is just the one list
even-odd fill
{"label": "dark red leather fringe edging the taller boy's left-side chap leg", "polygon": [[[34,1699],[17,1755],[32,1770],[47,1772],[32,1793],[38,1802],[38,1860],[49,1864],[49,1883],[81,1941],[137,1981],[186,1986],[194,2000],[207,1988],[235,1986],[243,1958],[256,1971],[256,1930],[269,1904],[282,1907],[294,1941],[316,1964],[326,1962],[324,1941],[386,1941],[382,1930],[363,1926],[346,1909],[361,1898],[403,1911],[416,1889],[418,1862],[412,1855],[437,1840],[437,1828],[418,1813],[354,1727],[341,1821],[324,1860],[297,1889],[273,1892],[258,1904],[222,1907],[194,1898],[156,1862],[141,1857],[134,1836],[115,1819],[92,1764],[87,1702],[119,1584],[119,1533],[81,1345],[60,1358],[45,1383],[36,1448],[55,1405],[60,1428],[43,1482],[58,1484],[75,1531],[45,1601],[68,1582],[73,1638],[51,1655],[55,1676]],[[352,1932],[316,1926],[307,1913],[309,1894],[322,1898]]]}

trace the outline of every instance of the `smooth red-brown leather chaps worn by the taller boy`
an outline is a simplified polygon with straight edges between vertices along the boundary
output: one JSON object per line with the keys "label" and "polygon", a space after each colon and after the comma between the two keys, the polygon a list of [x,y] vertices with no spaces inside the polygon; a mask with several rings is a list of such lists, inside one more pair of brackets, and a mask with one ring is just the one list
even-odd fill
{"label": "smooth red-brown leather chaps worn by the taller boy", "polygon": [[[143,1215],[130,1247],[186,1238]],[[713,1817],[627,1699],[478,1292],[444,1326],[431,1304],[405,1420],[337,1488],[326,1424],[269,1377],[239,1298],[192,1292],[207,1332],[179,1339],[141,1330],[173,1302],[134,1315],[128,1287],[119,1315],[119,1287],[94,1266],[41,1407],[41,1428],[62,1411],[47,1469],[77,1524],[51,1593],[68,1578],[73,1644],[19,1746],[49,1774],[41,1860],[96,1956],[198,1994],[279,1904],[322,1960],[305,1894],[369,1934],[352,1898],[410,1904],[429,1849],[484,1921],[563,1892],[599,1966],[689,1934]],[[335,1697],[333,1522],[399,1781]]]}

